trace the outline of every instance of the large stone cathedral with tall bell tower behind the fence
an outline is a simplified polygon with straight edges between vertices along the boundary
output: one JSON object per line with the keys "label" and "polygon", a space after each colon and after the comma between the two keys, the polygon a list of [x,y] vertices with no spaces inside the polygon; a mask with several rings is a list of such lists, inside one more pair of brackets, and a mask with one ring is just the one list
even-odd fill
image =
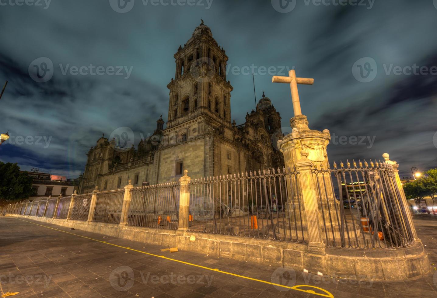
{"label": "large stone cathedral with tall bell tower behind the fence", "polygon": [[80,194],[96,186],[100,191],[121,188],[129,179],[134,186],[173,182],[184,170],[197,179],[284,166],[276,146],[281,117],[264,93],[245,123],[231,120],[228,57],[203,21],[174,58],[167,122],[161,116],[153,135],[137,149],[122,148],[104,135],[98,139],[87,153]]}

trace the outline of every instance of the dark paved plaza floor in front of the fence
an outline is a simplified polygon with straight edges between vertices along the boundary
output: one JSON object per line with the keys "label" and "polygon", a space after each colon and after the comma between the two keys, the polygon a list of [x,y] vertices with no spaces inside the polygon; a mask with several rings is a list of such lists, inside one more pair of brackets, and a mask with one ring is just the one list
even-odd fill
{"label": "dark paved plaza floor in front of the fence", "polygon": [[0,290],[18,292],[10,296],[17,298],[437,297],[437,218],[415,215],[414,221],[430,273],[358,282],[0,217]]}

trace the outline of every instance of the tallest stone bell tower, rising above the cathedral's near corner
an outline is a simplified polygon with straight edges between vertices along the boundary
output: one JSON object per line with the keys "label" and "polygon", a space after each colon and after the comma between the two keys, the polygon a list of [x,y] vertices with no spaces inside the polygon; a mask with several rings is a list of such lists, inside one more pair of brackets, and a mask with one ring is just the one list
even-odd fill
{"label": "tallest stone bell tower, rising above the cathedral's near corner", "polygon": [[201,21],[184,46],[174,54],[175,79],[170,89],[167,128],[207,114],[220,125],[231,126],[232,86],[226,81],[228,56]]}

